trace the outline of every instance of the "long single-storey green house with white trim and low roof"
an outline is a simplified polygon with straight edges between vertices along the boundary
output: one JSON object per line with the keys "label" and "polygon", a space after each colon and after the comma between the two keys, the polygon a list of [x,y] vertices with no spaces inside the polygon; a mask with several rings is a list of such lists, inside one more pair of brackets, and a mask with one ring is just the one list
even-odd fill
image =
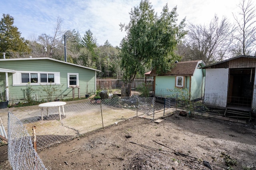
{"label": "long single-storey green house with white trim and low roof", "polygon": [[28,85],[34,90],[35,100],[45,99],[42,89],[46,86],[58,87],[54,98],[72,98],[95,94],[96,70],[77,64],[51,58],[0,59],[0,86],[2,96],[13,101],[26,99]]}

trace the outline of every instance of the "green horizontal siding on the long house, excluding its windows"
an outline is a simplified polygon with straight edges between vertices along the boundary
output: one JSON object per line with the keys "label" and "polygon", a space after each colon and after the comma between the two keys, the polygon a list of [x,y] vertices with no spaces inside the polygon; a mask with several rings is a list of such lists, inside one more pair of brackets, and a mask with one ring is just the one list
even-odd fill
{"label": "green horizontal siding on the long house, excluding its windows", "polygon": [[[56,96],[58,98],[62,97],[72,97],[72,88],[68,88],[68,73],[78,73],[79,74],[79,86],[80,86],[80,95],[86,94],[86,86],[88,82],[88,92],[91,94],[95,93],[95,71],[87,68],[82,68],[78,66],[73,66],[70,64],[60,63],[52,60],[20,60],[20,61],[1,61],[0,68],[14,69],[17,71],[42,71],[42,72],[60,72],[60,85],[62,90],[61,95]],[[4,73],[5,77],[5,73]],[[25,89],[26,86],[12,86],[12,73],[8,73],[9,81],[9,96],[10,100],[19,100],[25,98]],[[3,84],[0,79],[0,83]],[[33,85],[33,89],[39,89],[41,85]],[[45,85],[44,85],[45,86]],[[59,92],[60,93],[60,92]],[[38,97],[45,95],[37,91]],[[75,88],[76,97],[78,96],[78,88]],[[53,96],[55,97],[55,96]]]}

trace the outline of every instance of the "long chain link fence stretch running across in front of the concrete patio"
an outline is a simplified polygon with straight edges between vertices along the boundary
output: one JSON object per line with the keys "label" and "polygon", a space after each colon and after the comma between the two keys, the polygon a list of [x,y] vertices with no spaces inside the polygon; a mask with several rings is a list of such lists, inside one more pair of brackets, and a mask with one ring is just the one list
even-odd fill
{"label": "long chain link fence stretch running across in front of the concrete patio", "polygon": [[36,126],[37,149],[41,150],[124,119],[146,115],[153,120],[154,106],[155,98],[138,96],[72,101],[64,105],[65,115],[61,115],[61,121],[58,107],[44,108],[43,120],[38,106],[16,107],[11,112],[26,126],[29,136]]}

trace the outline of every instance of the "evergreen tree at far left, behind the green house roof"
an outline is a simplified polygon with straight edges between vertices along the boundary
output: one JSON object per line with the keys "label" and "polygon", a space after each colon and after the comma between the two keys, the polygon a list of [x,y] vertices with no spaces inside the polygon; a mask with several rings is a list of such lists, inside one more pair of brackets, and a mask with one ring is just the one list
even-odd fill
{"label": "evergreen tree at far left, behind the green house roof", "polygon": [[0,52],[6,52],[6,56],[12,57],[14,54],[19,57],[22,53],[30,53],[28,41],[20,36],[21,33],[13,24],[14,18],[9,14],[3,14],[0,20]]}

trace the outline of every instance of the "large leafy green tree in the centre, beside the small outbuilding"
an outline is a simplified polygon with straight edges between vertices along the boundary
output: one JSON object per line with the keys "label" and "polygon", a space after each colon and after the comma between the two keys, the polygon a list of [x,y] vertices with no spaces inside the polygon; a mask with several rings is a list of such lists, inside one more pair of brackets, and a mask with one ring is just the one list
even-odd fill
{"label": "large leafy green tree in the centre, beside the small outbuilding", "polygon": [[[136,74],[144,74],[145,67],[156,68],[156,71],[170,70],[178,56],[174,54],[177,43],[184,37],[185,19],[177,24],[176,7],[171,12],[164,6],[158,17],[148,0],[142,0],[140,6],[130,12],[130,23],[120,24],[125,28],[126,37],[120,46],[121,67],[124,79],[130,90],[130,84]],[[130,92],[126,95],[129,95]]]}

